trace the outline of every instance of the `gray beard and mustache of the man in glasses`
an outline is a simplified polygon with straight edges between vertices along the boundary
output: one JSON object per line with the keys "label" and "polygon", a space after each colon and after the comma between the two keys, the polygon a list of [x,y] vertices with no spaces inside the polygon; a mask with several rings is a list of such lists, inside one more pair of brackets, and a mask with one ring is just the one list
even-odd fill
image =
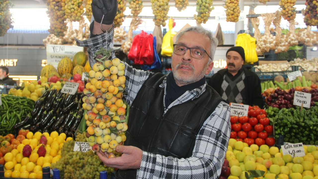
{"label": "gray beard and mustache of the man in glasses", "polygon": [[207,66],[204,68],[204,70],[201,71],[199,76],[190,76],[189,79],[183,79],[182,76],[180,76],[180,75],[183,75],[183,74],[178,73],[177,70],[176,70],[181,65],[189,66],[193,70],[193,72],[195,72],[195,68],[190,63],[184,62],[184,61],[178,63],[175,68],[172,68],[173,77],[175,78],[175,80],[179,84],[183,84],[183,85],[191,84],[191,83],[194,83],[194,82],[197,82],[197,81],[201,80],[203,78],[203,76],[204,76],[204,73],[205,73],[206,69],[209,67],[209,63],[208,63]]}

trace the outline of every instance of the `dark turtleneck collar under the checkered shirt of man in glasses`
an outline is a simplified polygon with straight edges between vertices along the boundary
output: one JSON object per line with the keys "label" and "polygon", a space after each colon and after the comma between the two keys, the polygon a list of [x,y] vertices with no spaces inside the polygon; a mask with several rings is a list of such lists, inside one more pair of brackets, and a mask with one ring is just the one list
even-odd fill
{"label": "dark turtleneck collar under the checkered shirt of man in glasses", "polygon": [[178,86],[176,84],[176,80],[173,77],[172,72],[167,75],[167,82],[166,82],[166,97],[164,98],[164,103],[166,108],[174,102],[176,99],[178,99],[181,95],[183,95],[186,91],[190,91],[193,89],[196,89],[202,85],[205,84],[205,76],[194,83],[183,85],[183,86]]}

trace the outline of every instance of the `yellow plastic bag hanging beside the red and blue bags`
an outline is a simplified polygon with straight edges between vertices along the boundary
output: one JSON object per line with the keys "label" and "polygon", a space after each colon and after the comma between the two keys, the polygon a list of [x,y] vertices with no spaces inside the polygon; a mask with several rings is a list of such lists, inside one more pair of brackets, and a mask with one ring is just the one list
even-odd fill
{"label": "yellow plastic bag hanging beside the red and blue bags", "polygon": [[171,57],[171,54],[173,52],[173,40],[172,40],[172,38],[173,38],[173,36],[176,35],[176,32],[172,31],[172,26],[173,26],[172,18],[169,19],[168,26],[169,26],[169,30],[163,36],[163,39],[162,39],[161,55]]}

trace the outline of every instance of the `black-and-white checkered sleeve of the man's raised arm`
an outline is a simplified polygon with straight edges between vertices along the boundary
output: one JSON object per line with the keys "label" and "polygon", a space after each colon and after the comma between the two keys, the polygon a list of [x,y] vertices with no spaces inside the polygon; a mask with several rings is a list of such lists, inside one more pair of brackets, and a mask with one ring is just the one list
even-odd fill
{"label": "black-and-white checkered sleeve of the man's raised arm", "polygon": [[[100,47],[103,47],[107,50],[112,49],[113,47],[113,36],[114,36],[114,25],[112,28],[107,30],[107,32],[100,34],[96,37],[86,39],[86,40],[79,40],[76,39],[77,46],[80,47],[87,47],[87,54],[88,54],[88,61],[89,65],[93,67],[96,60],[94,59],[94,53],[100,50]],[[112,49],[111,59],[114,59],[115,53],[114,49]],[[141,88],[142,84],[146,81],[149,75],[153,72],[137,70],[132,66],[128,65],[126,62],[122,62],[125,64],[125,94],[124,99],[126,102],[131,105],[134,101],[139,89]]]}

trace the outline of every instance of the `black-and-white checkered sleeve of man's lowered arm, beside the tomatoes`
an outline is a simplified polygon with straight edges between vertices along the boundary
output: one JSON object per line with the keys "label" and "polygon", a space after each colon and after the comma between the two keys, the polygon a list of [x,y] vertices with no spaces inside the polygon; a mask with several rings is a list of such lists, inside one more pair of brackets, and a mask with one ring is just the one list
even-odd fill
{"label": "black-and-white checkered sleeve of man's lowered arm, beside the tomatoes", "polygon": [[221,102],[200,129],[191,157],[178,159],[143,152],[137,178],[217,179],[221,174],[230,132],[230,106]]}

